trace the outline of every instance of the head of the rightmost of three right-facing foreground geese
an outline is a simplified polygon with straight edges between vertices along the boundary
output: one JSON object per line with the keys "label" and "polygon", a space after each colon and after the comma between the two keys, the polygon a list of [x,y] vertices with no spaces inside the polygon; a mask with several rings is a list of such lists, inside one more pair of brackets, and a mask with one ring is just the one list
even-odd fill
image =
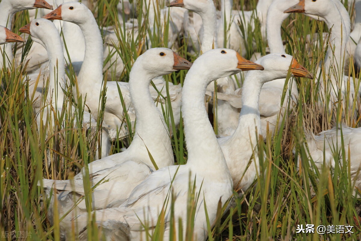
{"label": "head of the rightmost of three right-facing foreground geese", "polygon": [[[293,56],[286,53],[270,53],[258,59],[256,63],[261,64],[265,68],[264,71],[259,73],[260,76],[263,76],[263,78],[260,78],[260,81],[263,83],[274,79],[286,78],[288,70],[290,70],[293,77],[313,78],[312,74],[300,65]],[[258,74],[255,71],[248,74],[251,73]]]}

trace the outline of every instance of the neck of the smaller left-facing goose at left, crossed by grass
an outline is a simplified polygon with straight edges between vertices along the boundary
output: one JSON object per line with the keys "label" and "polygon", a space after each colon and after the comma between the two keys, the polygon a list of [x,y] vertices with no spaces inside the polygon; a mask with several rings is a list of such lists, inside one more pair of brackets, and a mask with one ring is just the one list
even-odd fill
{"label": "neck of the smaller left-facing goose at left, crossed by grass", "polygon": [[[54,33],[49,34],[42,41],[49,57],[49,91],[48,100],[55,99],[56,107],[62,107],[65,89],[65,61],[60,35],[54,26]],[[54,92],[56,95],[54,96]]]}

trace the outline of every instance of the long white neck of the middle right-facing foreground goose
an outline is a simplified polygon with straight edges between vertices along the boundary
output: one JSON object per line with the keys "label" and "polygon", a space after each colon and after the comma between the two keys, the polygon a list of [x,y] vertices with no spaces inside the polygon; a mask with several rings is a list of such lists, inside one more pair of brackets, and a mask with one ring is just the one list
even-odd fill
{"label": "long white neck of the middle right-facing foreground goose", "polygon": [[[195,160],[188,161],[187,165],[189,163],[205,170],[212,167],[222,173],[222,170],[227,170],[227,164],[204,105],[206,87],[214,78],[207,75],[208,71],[202,68],[203,66],[194,66],[195,64],[188,71],[182,89],[182,115],[188,160]],[[208,82],[200,81],[205,79]]]}

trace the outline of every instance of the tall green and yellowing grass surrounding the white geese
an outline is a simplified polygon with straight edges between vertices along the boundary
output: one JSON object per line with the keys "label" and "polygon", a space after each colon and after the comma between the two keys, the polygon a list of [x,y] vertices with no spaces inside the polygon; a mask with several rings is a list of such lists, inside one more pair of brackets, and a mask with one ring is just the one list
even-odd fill
{"label": "tall green and yellowing grass surrounding the white geese", "polygon": [[[244,1],[235,1],[236,6],[243,6]],[[160,37],[159,29],[151,31],[145,21],[138,28],[138,37],[132,39],[124,34],[124,26],[117,21],[116,0],[92,0],[92,11],[100,27],[117,25],[119,29],[119,45],[125,63],[125,71],[120,79],[107,81],[128,81],[129,72],[137,56],[146,48],[149,41],[153,47],[169,47],[167,32]],[[219,5],[219,3],[217,3]],[[249,0],[247,8],[256,5],[256,0]],[[347,3],[345,3],[347,6]],[[138,12],[140,13],[139,9]],[[349,12],[352,13],[351,10]],[[352,18],[353,13],[351,14]],[[139,14],[138,20],[142,14]],[[14,19],[13,31],[28,22],[26,13],[18,13]],[[162,26],[167,27],[167,26]],[[295,56],[299,63],[315,73],[319,60],[323,59],[326,50],[322,47],[312,50],[305,49],[305,39],[300,36],[328,31],[323,22],[311,20],[302,14],[291,14],[282,25],[282,36],[286,42],[286,52]],[[150,37],[147,39],[146,35]],[[318,38],[320,35],[317,35]],[[132,39],[129,41],[128,39]],[[29,38],[29,44],[31,39]],[[256,46],[247,50],[246,58],[253,52],[265,53],[267,43],[260,35],[260,29],[249,31],[246,42]],[[179,39],[180,56],[195,60],[196,56],[187,53],[187,46]],[[309,53],[310,52],[310,53]],[[312,56],[312,57],[309,57]],[[351,77],[355,83],[360,82],[357,72],[350,67]],[[72,84],[75,78],[68,73]],[[182,84],[185,70],[166,76],[173,83]],[[66,93],[66,102],[77,103],[77,112],[64,109],[54,120],[56,126],[49,124],[38,129],[36,116],[32,107],[32,96],[28,95],[26,74],[22,66],[3,70],[0,73],[2,89],[0,90],[0,232],[1,240],[59,240],[59,224],[51,225],[47,219],[49,203],[42,202],[42,190],[37,186],[42,178],[64,180],[76,175],[79,170],[96,155],[96,144],[100,140],[101,120],[91,130],[82,126],[82,104],[80,96],[73,96],[70,89]],[[299,104],[290,108],[287,119],[284,119],[281,130],[273,137],[268,136],[266,143],[260,142],[261,150],[266,151],[266,158],[260,158],[261,175],[253,188],[247,190],[242,197],[235,195],[235,205],[222,217],[221,207],[219,218],[213,229],[209,229],[209,240],[359,240],[360,235],[360,200],[353,196],[347,155],[339,158],[335,154],[334,168],[324,168],[319,173],[313,171],[312,160],[309,161],[307,148],[304,146],[304,130],[315,134],[330,129],[333,125],[345,123],[351,127],[359,127],[357,117],[343,113],[339,106],[333,113],[325,106],[317,103],[319,93],[312,80],[298,79],[300,92]],[[160,98],[166,98],[160,96]],[[75,101],[77,99],[77,101]],[[104,100],[105,101],[105,100]],[[360,103],[346,103],[360,106]],[[356,108],[356,107],[355,107]],[[167,113],[169,106],[164,107]],[[357,109],[360,114],[360,109]],[[336,116],[337,118],[332,118]],[[360,116],[360,115],[358,115]],[[217,120],[217,116],[214,116]],[[212,120],[214,123],[217,121]],[[77,123],[74,128],[74,121]],[[173,116],[166,121],[174,121]],[[182,122],[181,122],[182,123]],[[217,126],[215,125],[216,129]],[[175,160],[184,164],[187,160],[187,149],[184,142],[182,125],[171,130]],[[46,134],[48,133],[48,134]],[[131,142],[132,135],[124,141],[114,142],[111,152],[119,152]],[[294,150],[294,152],[293,152]],[[347,153],[348,150],[343,150]],[[255,154],[257,155],[257,153]],[[297,163],[299,158],[299,163]],[[49,163],[49,168],[45,164]],[[298,168],[300,166],[300,168]],[[317,168],[316,168],[317,169]],[[312,185],[312,188],[310,186]],[[90,188],[89,188],[90,189]],[[86,197],[87,198],[87,197]],[[192,197],[189,203],[189,218],[192,219]],[[224,208],[224,207],[223,207]],[[55,217],[58,220],[61,217]],[[173,217],[172,217],[173,218]],[[160,220],[162,216],[160,216]],[[173,218],[174,219],[174,218]],[[361,220],[361,218],[360,218]],[[297,226],[314,225],[314,233],[297,233]],[[318,234],[316,228],[323,225],[325,234]],[[353,233],[326,233],[332,231],[328,226],[341,228],[353,226]],[[162,222],[155,228],[155,235],[149,240],[162,240],[164,227]],[[192,224],[186,227],[191,232]],[[90,229],[96,233],[97,230]],[[335,232],[335,231],[334,231]],[[177,234],[175,234],[177,235]],[[73,237],[74,238],[74,237]],[[98,240],[94,235],[92,240]],[[191,240],[190,237],[182,237]]]}

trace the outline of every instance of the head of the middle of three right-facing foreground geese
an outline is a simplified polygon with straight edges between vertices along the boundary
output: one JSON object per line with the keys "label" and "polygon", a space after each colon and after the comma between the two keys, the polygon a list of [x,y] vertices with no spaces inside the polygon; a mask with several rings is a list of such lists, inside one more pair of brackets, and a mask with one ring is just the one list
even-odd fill
{"label": "head of the middle of three right-facing foreground geese", "polygon": [[[206,51],[193,63],[196,65],[192,71],[197,71],[205,76],[205,79],[219,79],[239,73],[243,70],[263,70],[263,66],[244,59],[235,50],[216,48]],[[190,70],[190,71],[191,71]]]}

